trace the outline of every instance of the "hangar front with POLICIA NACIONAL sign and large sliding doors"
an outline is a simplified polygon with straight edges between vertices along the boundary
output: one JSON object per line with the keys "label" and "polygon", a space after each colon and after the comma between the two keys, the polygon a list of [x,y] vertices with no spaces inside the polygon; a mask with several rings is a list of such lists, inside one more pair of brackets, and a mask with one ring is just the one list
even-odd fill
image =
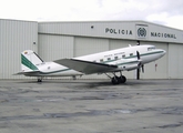
{"label": "hangar front with POLICIA NACIONAL sign and large sliding doors", "polygon": [[[145,65],[145,73],[141,73],[141,79],[183,79],[182,35],[181,30],[144,21],[41,22],[39,52],[45,59],[57,60],[133,45],[139,40],[141,44],[154,44],[166,50],[166,55],[162,59]],[[65,51],[68,52],[64,53]],[[135,79],[136,72],[123,74]],[[84,78],[106,76],[93,74]]]}

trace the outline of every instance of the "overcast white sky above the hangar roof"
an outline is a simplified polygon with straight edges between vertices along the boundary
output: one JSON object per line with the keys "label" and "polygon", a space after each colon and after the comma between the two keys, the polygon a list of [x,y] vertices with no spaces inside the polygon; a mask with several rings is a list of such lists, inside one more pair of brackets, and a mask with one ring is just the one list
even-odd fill
{"label": "overcast white sky above the hangar roof", "polygon": [[144,20],[183,30],[183,0],[0,0],[0,19]]}

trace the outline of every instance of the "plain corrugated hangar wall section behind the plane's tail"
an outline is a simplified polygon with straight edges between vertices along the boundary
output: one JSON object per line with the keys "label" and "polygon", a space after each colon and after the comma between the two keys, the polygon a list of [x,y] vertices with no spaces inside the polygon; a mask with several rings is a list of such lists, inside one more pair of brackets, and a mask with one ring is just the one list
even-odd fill
{"label": "plain corrugated hangar wall section behind the plane's tail", "polygon": [[38,52],[38,22],[0,19],[0,79],[24,79],[20,71],[23,50]]}

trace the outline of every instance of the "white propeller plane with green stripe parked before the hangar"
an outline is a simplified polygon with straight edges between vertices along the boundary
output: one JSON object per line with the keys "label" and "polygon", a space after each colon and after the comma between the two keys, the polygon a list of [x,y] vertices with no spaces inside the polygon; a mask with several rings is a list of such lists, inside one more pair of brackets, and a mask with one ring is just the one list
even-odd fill
{"label": "white propeller plane with green stripe parked before the hangar", "polygon": [[[106,74],[113,84],[124,83],[122,71],[144,66],[145,63],[163,57],[165,51],[154,45],[130,45],[128,48],[83,55],[72,59],[60,59],[44,62],[35,52],[26,50],[21,53],[21,72],[26,76],[37,76],[42,82],[44,76],[77,76],[83,74]],[[120,76],[115,73],[119,72]],[[110,76],[112,73],[113,76]]]}

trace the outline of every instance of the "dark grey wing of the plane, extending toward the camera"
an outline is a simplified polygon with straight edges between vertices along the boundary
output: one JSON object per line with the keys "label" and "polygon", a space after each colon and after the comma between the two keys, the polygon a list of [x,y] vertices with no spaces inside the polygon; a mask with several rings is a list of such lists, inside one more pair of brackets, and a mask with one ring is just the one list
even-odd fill
{"label": "dark grey wing of the plane, extending toward the camera", "polygon": [[61,59],[53,62],[85,74],[104,73],[118,69],[118,65],[83,61],[77,59]]}

